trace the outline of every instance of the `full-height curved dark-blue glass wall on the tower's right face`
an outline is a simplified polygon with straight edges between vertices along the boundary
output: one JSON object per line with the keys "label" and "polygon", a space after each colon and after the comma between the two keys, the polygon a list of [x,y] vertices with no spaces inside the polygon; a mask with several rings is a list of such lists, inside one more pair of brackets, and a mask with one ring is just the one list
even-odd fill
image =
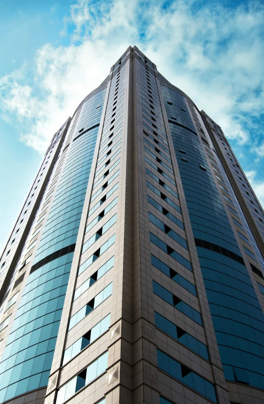
{"label": "full-height curved dark-blue glass wall on the tower's right face", "polygon": [[184,97],[161,86],[227,380],[264,388],[264,315]]}

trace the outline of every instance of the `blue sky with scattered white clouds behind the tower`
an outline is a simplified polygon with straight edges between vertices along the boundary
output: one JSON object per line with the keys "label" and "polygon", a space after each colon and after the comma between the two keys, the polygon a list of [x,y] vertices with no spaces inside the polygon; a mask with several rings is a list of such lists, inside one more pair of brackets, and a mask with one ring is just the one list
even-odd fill
{"label": "blue sky with scattered white clouds behind the tower", "polygon": [[264,5],[0,2],[0,249],[53,134],[131,45],[223,129],[264,204]]}

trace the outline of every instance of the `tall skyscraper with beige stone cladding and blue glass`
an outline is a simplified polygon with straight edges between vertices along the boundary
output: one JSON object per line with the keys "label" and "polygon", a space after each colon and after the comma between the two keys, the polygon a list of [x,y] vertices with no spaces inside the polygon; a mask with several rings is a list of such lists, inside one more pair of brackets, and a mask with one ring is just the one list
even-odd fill
{"label": "tall skyscraper with beige stone cladding and blue glass", "polygon": [[129,47],[53,136],[0,261],[0,401],[264,402],[264,212]]}

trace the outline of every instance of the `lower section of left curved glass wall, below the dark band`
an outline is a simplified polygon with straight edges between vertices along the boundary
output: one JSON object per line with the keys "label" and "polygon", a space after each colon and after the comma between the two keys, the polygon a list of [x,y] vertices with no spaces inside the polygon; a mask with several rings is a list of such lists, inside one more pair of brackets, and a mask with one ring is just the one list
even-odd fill
{"label": "lower section of left curved glass wall, below the dark band", "polygon": [[1,400],[47,385],[73,253],[28,277],[2,356]]}

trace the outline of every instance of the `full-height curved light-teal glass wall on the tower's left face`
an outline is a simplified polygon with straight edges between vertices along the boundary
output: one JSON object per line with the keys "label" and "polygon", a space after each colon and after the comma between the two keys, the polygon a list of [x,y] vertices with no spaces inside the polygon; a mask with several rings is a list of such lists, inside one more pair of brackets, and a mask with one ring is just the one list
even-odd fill
{"label": "full-height curved light-teal glass wall on the tower's left face", "polygon": [[47,386],[105,94],[83,105],[0,364],[1,402]]}

